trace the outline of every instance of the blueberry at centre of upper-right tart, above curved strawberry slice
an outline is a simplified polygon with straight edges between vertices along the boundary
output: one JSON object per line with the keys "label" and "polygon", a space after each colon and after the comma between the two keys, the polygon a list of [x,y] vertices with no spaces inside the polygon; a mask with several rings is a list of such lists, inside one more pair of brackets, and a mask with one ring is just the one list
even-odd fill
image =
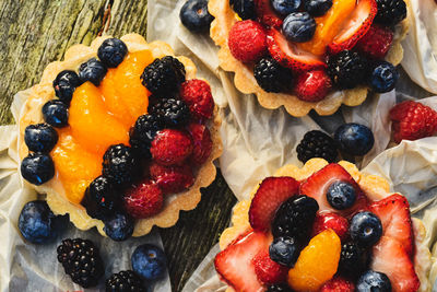
{"label": "blueberry at centre of upper-right tart, above curved strawberry slice", "polygon": [[316,32],[316,21],[307,12],[293,12],[285,17],[282,32],[291,42],[308,42]]}

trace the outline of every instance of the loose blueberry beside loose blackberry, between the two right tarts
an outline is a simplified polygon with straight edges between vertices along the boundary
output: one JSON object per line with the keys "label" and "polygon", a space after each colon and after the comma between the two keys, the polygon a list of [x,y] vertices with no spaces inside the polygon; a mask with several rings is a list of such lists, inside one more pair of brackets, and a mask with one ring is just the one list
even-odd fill
{"label": "loose blueberry beside loose blackberry, between the two right tarts", "polygon": [[367,154],[375,143],[374,133],[369,128],[359,124],[344,124],[334,133],[334,140],[341,151],[356,156]]}

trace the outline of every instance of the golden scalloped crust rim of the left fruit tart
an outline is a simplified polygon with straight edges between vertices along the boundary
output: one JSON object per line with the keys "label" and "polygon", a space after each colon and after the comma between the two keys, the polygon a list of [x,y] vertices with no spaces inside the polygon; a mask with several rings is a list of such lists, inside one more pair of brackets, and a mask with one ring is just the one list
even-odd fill
{"label": "golden scalloped crust rim of the left fruit tart", "polygon": [[[55,61],[47,66],[43,72],[42,80],[38,84],[31,89],[29,97],[20,110],[19,116],[19,139],[17,149],[20,161],[23,160],[28,153],[27,147],[24,143],[24,129],[31,124],[38,124],[43,121],[42,106],[49,100],[55,98],[55,91],[52,89],[52,81],[56,75],[62,70],[75,70],[82,62],[88,60],[97,55],[97,49],[101,44],[109,36],[97,37],[90,46],[74,45],[66,52],[63,61]],[[128,46],[130,52],[139,50],[151,50],[154,58],[162,58],[164,56],[175,56],[172,47],[161,40],[147,44],[146,40],[139,34],[127,34],[121,39]],[[194,63],[186,57],[177,57],[186,68],[186,75],[188,79],[196,77]],[[192,210],[197,207],[201,199],[200,188],[209,186],[215,178],[216,170],[213,161],[217,159],[222,151],[222,140],[220,137],[221,118],[217,113],[217,107],[214,108],[213,118],[210,120],[211,139],[213,148],[208,161],[198,170],[194,184],[186,191],[177,195],[166,197],[164,209],[156,215],[141,219],[135,222],[133,236],[142,236],[147,234],[154,225],[160,227],[173,226],[178,218],[180,210]],[[57,171],[55,177],[42,186],[31,185],[23,180],[24,184],[34,187],[37,192],[46,194],[46,200],[50,209],[56,214],[70,214],[70,221],[80,229],[88,230],[94,226],[97,227],[102,235],[104,223],[99,220],[92,219],[86,214],[82,206],[73,205],[67,200],[64,189],[61,182],[57,178]],[[106,235],[105,235],[106,236]]]}

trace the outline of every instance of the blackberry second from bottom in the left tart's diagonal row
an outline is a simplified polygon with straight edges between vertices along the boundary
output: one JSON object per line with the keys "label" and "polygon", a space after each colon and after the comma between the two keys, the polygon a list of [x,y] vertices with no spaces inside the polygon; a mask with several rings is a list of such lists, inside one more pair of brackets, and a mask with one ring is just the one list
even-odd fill
{"label": "blackberry second from bottom in the left tart's diagonal row", "polygon": [[126,186],[138,175],[139,162],[134,151],[123,144],[110,145],[103,155],[103,175],[114,184]]}

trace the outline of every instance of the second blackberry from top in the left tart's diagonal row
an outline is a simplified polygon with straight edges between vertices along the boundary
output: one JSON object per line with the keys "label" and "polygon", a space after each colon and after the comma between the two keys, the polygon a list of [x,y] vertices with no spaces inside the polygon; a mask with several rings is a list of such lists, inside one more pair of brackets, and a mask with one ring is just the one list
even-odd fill
{"label": "second blackberry from top in the left tart's diagonal row", "polygon": [[162,98],[151,106],[151,115],[161,117],[168,128],[184,127],[190,119],[190,109],[184,101],[175,98]]}

